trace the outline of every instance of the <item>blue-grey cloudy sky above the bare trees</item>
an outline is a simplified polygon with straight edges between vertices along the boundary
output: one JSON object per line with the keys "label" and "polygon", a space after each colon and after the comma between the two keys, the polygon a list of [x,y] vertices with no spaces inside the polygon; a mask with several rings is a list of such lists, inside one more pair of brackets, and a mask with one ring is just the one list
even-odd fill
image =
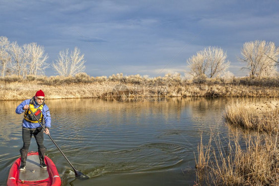
{"label": "blue-grey cloudy sky above the bare trees", "polygon": [[209,46],[245,76],[245,42],[279,45],[279,0],[0,0],[0,36],[43,46],[48,76],[59,52],[75,47],[91,76],[184,76],[187,60]]}

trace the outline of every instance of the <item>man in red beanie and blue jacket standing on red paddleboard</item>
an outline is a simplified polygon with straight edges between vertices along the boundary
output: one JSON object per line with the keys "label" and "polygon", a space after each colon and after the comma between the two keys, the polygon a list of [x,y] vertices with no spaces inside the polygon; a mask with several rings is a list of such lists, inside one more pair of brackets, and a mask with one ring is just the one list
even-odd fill
{"label": "man in red beanie and blue jacket standing on red paddleboard", "polygon": [[[36,118],[30,113],[30,110],[34,113],[36,118],[42,124],[43,120],[45,121],[46,131],[38,123]],[[46,148],[43,144],[44,142],[44,133],[49,134],[49,129],[51,126],[51,117],[48,106],[45,104],[45,94],[42,90],[36,92],[35,96],[31,99],[24,100],[19,104],[15,110],[16,114],[24,113],[24,118],[22,121],[22,139],[23,147],[20,149],[21,154],[21,165],[19,167],[20,171],[25,170],[25,164],[27,159],[27,153],[31,142],[32,134],[34,135],[39,152],[40,167],[47,168],[45,164],[45,152]],[[44,133],[43,133],[44,132]]]}

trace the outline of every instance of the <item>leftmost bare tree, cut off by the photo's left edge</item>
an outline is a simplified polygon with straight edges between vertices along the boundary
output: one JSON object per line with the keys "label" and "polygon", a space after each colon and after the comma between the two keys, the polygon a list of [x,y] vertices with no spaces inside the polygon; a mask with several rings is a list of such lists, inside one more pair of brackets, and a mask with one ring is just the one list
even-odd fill
{"label": "leftmost bare tree, cut off by the photo's left edge", "polygon": [[10,42],[7,37],[0,37],[0,69],[1,76],[5,76],[5,72],[7,71],[7,64],[10,62],[10,57],[8,54]]}

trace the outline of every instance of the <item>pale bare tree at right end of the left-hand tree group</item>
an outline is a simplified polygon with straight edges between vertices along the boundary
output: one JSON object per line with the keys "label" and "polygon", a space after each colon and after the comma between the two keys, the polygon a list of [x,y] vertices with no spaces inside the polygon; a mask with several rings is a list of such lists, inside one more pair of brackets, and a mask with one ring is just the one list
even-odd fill
{"label": "pale bare tree at right end of the left-hand tree group", "polygon": [[27,60],[28,71],[27,74],[38,75],[43,74],[48,67],[46,60],[48,55],[44,55],[44,47],[37,45],[37,43],[30,43],[23,45],[25,60]]}

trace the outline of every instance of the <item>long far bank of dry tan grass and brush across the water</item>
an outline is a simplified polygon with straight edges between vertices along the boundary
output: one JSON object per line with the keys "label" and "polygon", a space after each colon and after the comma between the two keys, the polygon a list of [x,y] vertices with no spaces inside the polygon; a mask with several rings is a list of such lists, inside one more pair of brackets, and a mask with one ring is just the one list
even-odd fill
{"label": "long far bank of dry tan grass and brush across the water", "polygon": [[[178,75],[148,78],[140,75],[92,77],[86,73],[74,77],[61,76],[6,76],[0,78],[0,100],[23,100],[38,89],[48,99],[109,97],[117,84],[125,84],[133,91],[135,85],[165,84],[167,97],[279,97],[279,79],[181,79]],[[132,93],[132,92],[131,92]],[[133,93],[131,94],[133,95]],[[154,95],[158,96],[158,95]]]}

